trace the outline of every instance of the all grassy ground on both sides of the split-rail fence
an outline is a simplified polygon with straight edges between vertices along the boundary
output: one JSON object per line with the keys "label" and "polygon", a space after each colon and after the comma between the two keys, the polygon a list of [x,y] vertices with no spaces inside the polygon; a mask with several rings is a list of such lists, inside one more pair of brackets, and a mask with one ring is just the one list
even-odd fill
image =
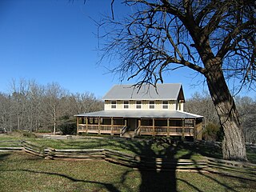
{"label": "all grassy ground on both sides of the split-rail fence", "polygon": [[[6,138],[4,138],[6,139]],[[18,138],[24,139],[24,138]],[[2,140],[2,139],[1,139]],[[0,153],[1,191],[255,191],[256,183],[217,174],[159,171],[156,158],[219,158],[214,146],[190,146],[169,138],[150,140],[26,138],[57,149],[112,149],[153,158],[153,169],[133,170],[108,162],[44,160],[24,153]],[[254,158],[255,152],[251,153]],[[248,155],[249,156],[249,155]]]}

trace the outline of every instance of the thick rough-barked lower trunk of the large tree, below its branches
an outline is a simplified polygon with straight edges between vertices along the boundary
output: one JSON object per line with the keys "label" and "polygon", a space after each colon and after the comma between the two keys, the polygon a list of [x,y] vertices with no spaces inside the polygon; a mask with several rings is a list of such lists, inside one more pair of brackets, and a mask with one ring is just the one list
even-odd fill
{"label": "thick rough-barked lower trunk of the large tree, below its branches", "polygon": [[242,125],[238,119],[238,110],[234,104],[234,98],[226,85],[222,70],[212,70],[211,73],[206,74],[206,80],[218,118],[224,130],[222,142],[223,158],[247,161],[245,138],[242,132]]}

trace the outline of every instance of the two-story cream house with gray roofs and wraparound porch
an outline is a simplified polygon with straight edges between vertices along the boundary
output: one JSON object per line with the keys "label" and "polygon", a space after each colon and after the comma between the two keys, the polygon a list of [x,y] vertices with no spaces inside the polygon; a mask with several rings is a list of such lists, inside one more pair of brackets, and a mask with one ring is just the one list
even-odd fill
{"label": "two-story cream house with gray roofs and wraparound porch", "polygon": [[202,139],[203,117],[183,111],[182,85],[178,83],[113,86],[103,97],[104,110],[77,114],[77,132],[179,136]]}

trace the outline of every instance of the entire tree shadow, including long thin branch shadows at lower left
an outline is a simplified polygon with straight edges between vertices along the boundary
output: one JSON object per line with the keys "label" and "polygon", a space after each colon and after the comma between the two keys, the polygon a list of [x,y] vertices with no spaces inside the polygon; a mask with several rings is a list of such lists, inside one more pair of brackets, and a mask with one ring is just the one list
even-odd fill
{"label": "entire tree shadow, including long thin branch shadows at lower left", "polygon": [[[92,141],[95,142],[95,141]],[[96,141],[97,142],[97,141]],[[191,190],[195,191],[203,191],[200,189],[201,187],[194,182],[190,182],[190,180],[186,180],[186,178],[178,178],[177,169],[178,169],[178,158],[190,159],[194,154],[198,153],[198,149],[194,149],[193,146],[187,147],[182,144],[182,142],[174,143],[170,138],[157,138],[151,140],[120,140],[118,142],[113,142],[112,139],[106,139],[102,142],[99,142],[101,148],[105,148],[106,146],[111,146],[113,149],[122,148],[123,150],[129,150],[137,157],[140,158],[141,163],[138,164],[137,170],[141,176],[141,183],[139,186],[139,191],[178,191],[177,182],[182,183],[182,185],[189,186]],[[184,150],[186,148],[186,153],[182,155],[178,155],[180,150]],[[159,158],[161,158],[162,162],[159,162]],[[172,162],[171,167],[165,167],[165,164],[168,165],[169,162]],[[58,174],[58,173],[50,173],[43,171],[34,171],[34,170],[21,170],[27,171],[34,174],[53,174],[58,175],[63,178],[67,178],[72,182],[87,182],[101,185],[106,188],[106,190],[110,192],[119,191],[116,186],[114,186],[113,182],[95,182],[88,181],[82,179],[72,178],[67,174]],[[126,189],[127,191],[131,191],[131,187],[126,184],[126,180],[130,177],[130,172],[133,171],[131,169],[126,170],[125,173],[122,174],[120,182],[118,185],[122,186],[122,189]],[[189,174],[189,173],[188,173]],[[220,182],[218,179],[211,176],[211,174],[205,174],[200,172],[199,174],[202,177],[207,178],[211,182],[217,183],[219,186],[223,186],[226,190],[229,191],[238,191],[234,190],[234,187],[230,187],[226,185],[225,182]]]}

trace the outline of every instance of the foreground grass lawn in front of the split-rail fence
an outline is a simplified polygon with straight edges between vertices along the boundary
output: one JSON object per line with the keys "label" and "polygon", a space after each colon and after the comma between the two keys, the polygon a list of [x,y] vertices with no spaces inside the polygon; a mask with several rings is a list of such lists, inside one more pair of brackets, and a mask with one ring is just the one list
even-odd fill
{"label": "foreground grass lawn in front of the split-rail fence", "polygon": [[256,182],[217,174],[133,170],[103,161],[45,160],[0,153],[4,191],[255,191]]}

